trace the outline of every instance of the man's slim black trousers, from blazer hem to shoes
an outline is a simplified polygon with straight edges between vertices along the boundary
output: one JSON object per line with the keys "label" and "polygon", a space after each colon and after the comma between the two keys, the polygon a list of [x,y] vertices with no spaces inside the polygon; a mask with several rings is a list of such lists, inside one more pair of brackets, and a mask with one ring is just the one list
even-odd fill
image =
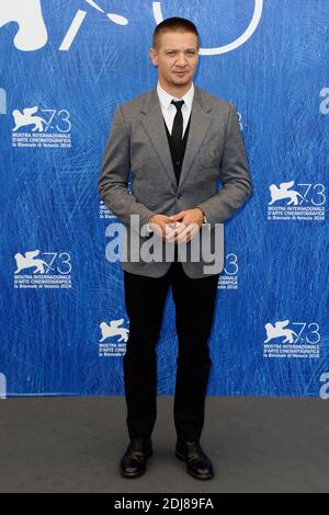
{"label": "man's slim black trousers, from blazer hem to shoes", "polygon": [[157,416],[157,353],[170,286],[175,305],[178,359],[173,404],[178,440],[200,440],[212,366],[211,334],[218,275],[192,279],[173,262],[162,277],[124,271],[129,337],[123,357],[127,427],[131,438],[150,437]]}

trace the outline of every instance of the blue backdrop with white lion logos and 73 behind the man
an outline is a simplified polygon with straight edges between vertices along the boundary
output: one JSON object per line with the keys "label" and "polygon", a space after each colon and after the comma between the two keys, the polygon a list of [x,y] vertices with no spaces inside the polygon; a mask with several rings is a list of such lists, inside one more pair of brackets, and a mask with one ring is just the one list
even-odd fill
{"label": "blue backdrop with white lion logos and 73 behind the man", "polygon": [[[209,394],[318,396],[329,371],[329,0],[1,0],[0,397],[123,394],[113,111],[156,84],[156,24],[200,30],[195,83],[234,103],[254,192],[225,224]],[[158,391],[172,394],[171,294]]]}

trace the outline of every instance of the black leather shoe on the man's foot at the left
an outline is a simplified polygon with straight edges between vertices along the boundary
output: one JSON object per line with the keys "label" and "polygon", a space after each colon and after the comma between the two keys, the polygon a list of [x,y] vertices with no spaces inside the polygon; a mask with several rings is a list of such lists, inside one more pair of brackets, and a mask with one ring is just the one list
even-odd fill
{"label": "black leather shoe on the man's foot at the left", "polygon": [[152,455],[151,439],[132,438],[120,462],[120,471],[125,478],[137,478],[146,471],[146,461]]}

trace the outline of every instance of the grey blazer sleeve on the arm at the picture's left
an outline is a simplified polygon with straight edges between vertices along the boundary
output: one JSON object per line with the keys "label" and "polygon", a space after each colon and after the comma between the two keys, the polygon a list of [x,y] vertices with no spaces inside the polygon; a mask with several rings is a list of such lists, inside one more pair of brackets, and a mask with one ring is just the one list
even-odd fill
{"label": "grey blazer sleeve on the arm at the picture's left", "polygon": [[[139,216],[139,234],[141,227],[155,215],[144,204],[137,202],[128,191],[131,171],[129,130],[123,117],[122,107],[117,106],[102,159],[99,178],[99,194],[105,205],[128,228],[132,215]],[[133,225],[133,227],[137,227]]]}

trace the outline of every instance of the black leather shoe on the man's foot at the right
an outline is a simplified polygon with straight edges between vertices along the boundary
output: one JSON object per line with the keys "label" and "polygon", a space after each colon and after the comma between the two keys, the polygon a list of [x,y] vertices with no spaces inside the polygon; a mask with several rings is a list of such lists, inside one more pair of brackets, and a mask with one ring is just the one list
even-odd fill
{"label": "black leather shoe on the man's foot at the right", "polygon": [[175,456],[188,464],[188,473],[196,479],[212,479],[214,470],[209,458],[198,442],[184,442],[175,445]]}

